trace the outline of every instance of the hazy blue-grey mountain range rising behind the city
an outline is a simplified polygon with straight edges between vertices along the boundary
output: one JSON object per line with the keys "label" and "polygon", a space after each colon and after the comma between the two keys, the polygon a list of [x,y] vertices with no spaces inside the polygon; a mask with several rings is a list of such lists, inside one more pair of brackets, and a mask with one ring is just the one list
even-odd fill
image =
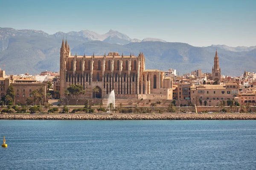
{"label": "hazy blue-grey mountain range rising behind the city", "polygon": [[106,34],[89,30],[47,34],[44,31],[14,28],[0,28],[0,66],[5,65],[1,69],[6,70],[6,74],[59,71],[59,52],[63,38],[67,38],[71,53],[78,55],[104,55],[110,51],[138,55],[142,51],[146,59],[146,69],[167,71],[173,68],[179,74],[196,69],[211,72],[217,49],[222,74],[240,76],[244,70],[255,71],[256,46],[195,47],[156,38],[131,39],[114,30]]}

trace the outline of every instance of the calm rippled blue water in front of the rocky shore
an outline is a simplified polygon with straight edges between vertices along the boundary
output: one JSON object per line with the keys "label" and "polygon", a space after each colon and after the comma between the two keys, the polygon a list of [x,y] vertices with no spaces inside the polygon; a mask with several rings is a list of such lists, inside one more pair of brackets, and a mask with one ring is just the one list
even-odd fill
{"label": "calm rippled blue water in front of the rocky shore", "polygon": [[256,121],[0,120],[4,135],[0,169],[256,169]]}

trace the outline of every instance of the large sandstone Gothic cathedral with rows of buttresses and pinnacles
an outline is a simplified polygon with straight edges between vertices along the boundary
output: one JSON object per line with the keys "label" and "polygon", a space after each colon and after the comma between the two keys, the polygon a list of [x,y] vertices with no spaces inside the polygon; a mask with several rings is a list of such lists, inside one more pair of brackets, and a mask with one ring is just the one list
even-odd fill
{"label": "large sandstone Gothic cathedral with rows of buttresses and pinnacles", "polygon": [[[138,56],[71,55],[70,46],[62,40],[60,49],[60,95],[70,85],[79,84],[86,98],[108,98],[114,90],[119,99],[172,99],[172,79],[164,71],[145,70],[143,53]],[[98,92],[93,92],[98,88]]]}

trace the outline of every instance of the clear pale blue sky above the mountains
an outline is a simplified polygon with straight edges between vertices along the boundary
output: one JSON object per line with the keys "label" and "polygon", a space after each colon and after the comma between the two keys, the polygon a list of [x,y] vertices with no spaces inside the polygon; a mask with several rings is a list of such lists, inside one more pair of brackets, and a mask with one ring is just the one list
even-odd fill
{"label": "clear pale blue sky above the mountains", "polygon": [[[256,0],[0,0],[0,27],[58,31],[110,29],[130,38],[193,46],[256,45]],[[6,10],[3,10],[6,9]]]}

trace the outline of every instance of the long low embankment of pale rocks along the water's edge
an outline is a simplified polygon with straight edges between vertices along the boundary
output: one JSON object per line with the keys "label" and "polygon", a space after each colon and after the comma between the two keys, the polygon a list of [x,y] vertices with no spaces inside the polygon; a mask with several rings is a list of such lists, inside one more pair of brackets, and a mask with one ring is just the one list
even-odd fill
{"label": "long low embankment of pale rocks along the water's edge", "polygon": [[256,114],[0,114],[14,120],[256,120]]}

